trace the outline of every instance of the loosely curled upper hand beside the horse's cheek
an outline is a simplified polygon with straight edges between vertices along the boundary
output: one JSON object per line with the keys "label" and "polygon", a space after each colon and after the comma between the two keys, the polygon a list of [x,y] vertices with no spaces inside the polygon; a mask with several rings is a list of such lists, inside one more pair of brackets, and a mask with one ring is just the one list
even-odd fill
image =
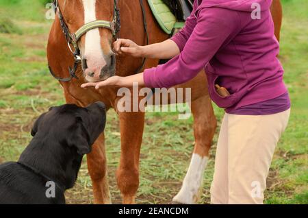
{"label": "loosely curled upper hand beside the horse's cheek", "polygon": [[135,58],[143,57],[142,46],[137,45],[132,40],[119,38],[114,42],[113,46],[114,46],[114,52],[117,55],[125,53]]}

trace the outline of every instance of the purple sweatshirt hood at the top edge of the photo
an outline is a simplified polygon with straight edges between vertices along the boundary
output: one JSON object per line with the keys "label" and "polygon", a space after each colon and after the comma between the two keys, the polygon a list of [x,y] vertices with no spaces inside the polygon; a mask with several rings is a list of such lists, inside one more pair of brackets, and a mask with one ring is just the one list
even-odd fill
{"label": "purple sweatshirt hood at the top edge of the photo", "polygon": [[270,9],[272,0],[196,0],[198,9],[201,8],[225,8],[242,12],[253,10],[266,11]]}

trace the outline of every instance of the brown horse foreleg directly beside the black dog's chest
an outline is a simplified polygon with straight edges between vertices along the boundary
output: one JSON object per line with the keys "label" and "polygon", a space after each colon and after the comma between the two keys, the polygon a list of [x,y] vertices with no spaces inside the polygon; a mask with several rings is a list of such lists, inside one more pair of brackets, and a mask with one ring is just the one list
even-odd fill
{"label": "brown horse foreleg directly beside the black dog's chest", "polygon": [[103,133],[92,146],[92,152],[88,154],[87,161],[92,180],[94,204],[111,204]]}

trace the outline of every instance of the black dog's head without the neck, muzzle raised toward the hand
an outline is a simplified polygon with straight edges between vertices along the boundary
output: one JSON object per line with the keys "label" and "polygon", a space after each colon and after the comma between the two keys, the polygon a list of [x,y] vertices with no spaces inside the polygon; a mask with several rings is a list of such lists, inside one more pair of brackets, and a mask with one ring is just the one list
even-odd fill
{"label": "black dog's head without the neck, muzzle raised toward the hand", "polygon": [[86,108],[66,104],[52,107],[42,114],[34,123],[31,135],[40,139],[54,138],[83,156],[91,152],[92,144],[105,128],[105,122],[105,105],[101,102]]}

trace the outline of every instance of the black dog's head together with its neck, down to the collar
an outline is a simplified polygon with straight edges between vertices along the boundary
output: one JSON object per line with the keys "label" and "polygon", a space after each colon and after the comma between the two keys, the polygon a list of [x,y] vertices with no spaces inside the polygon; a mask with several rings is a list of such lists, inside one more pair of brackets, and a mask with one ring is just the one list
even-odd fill
{"label": "black dog's head together with its neck, down to the collar", "polygon": [[70,189],[77,180],[84,154],[91,152],[105,122],[105,105],[101,102],[86,108],[72,104],[50,108],[34,123],[34,138],[18,161]]}

